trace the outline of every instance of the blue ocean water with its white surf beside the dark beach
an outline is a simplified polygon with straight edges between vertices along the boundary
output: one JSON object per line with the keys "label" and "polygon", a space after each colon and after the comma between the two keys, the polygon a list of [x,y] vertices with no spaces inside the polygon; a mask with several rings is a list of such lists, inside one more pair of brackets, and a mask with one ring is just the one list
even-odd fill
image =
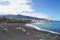
{"label": "blue ocean water with its white surf beside the dark beach", "polygon": [[60,34],[60,22],[33,23],[29,25],[38,30],[50,31],[52,33]]}

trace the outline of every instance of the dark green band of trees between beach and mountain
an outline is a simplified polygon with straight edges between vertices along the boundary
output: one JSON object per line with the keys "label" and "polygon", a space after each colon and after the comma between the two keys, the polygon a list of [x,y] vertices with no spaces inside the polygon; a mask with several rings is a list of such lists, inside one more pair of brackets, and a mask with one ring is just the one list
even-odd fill
{"label": "dark green band of trees between beach and mountain", "polygon": [[26,19],[9,19],[9,18],[0,18],[0,22],[7,22],[7,23],[29,23],[31,20]]}

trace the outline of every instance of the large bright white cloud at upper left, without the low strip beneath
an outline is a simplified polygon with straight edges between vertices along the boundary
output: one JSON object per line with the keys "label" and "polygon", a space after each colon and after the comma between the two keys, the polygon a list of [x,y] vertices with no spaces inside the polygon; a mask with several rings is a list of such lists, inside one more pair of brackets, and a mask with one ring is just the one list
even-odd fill
{"label": "large bright white cloud at upper left, without the low strip beneath", "polygon": [[[8,4],[6,3],[8,2]],[[31,0],[0,0],[0,14],[20,14],[22,12],[34,12]]]}

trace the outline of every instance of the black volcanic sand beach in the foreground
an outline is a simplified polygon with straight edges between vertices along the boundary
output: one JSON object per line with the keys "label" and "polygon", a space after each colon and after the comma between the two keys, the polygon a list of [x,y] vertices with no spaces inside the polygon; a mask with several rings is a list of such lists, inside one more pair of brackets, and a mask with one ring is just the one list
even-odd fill
{"label": "black volcanic sand beach in the foreground", "polygon": [[[6,24],[0,23],[0,40],[60,40],[60,35],[29,29],[21,23],[8,23],[8,32],[3,32],[2,29],[5,26]],[[24,27],[27,30],[26,33],[30,35],[21,30],[18,31],[17,26]]]}

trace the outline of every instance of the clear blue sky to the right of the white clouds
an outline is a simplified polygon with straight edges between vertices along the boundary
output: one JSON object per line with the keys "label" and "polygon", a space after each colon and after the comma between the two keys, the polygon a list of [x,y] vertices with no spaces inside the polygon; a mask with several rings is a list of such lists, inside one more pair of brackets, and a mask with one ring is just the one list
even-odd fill
{"label": "clear blue sky to the right of the white clouds", "polygon": [[33,0],[33,9],[54,20],[60,20],[60,0]]}

